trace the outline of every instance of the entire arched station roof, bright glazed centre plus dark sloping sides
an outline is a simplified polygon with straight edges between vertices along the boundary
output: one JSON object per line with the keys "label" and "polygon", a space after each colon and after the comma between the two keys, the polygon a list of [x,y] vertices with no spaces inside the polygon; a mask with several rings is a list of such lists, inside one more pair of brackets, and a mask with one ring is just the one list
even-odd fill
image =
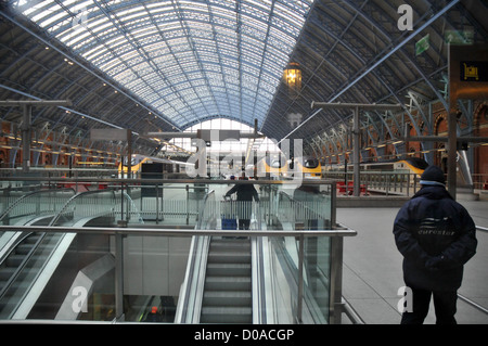
{"label": "entire arched station roof, bright glazed centre plus dark sloping sides", "polygon": [[[400,4],[411,31],[398,26]],[[257,119],[268,138],[321,153],[345,146],[351,112],[312,102],[399,103],[412,124],[427,103],[446,110],[452,34],[485,43],[487,14],[480,0],[7,0],[0,99],[68,99],[69,110],[37,110],[33,124],[80,138],[110,126],[142,144],[147,132]],[[290,63],[301,72],[293,92]],[[2,107],[0,119],[21,115]],[[368,112],[362,127],[393,137],[402,124],[391,115]]]}

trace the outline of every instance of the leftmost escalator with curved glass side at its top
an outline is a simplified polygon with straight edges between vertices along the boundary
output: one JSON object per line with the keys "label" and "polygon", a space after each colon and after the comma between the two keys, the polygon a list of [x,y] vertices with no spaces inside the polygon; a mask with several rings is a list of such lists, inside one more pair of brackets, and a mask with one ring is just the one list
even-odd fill
{"label": "leftmost escalator with curved glass side at its top", "polygon": [[[84,201],[85,196],[95,194],[115,195],[106,190],[75,194],[63,204],[55,216],[49,217],[48,226],[77,228],[114,225],[115,214],[112,206],[117,205],[116,203],[113,203],[113,201],[106,203],[107,201],[102,200],[98,202],[98,205],[92,206],[91,203]],[[110,207],[104,210],[99,204]],[[42,225],[46,225],[46,219]],[[84,235],[85,239],[89,236]],[[55,280],[51,280],[55,274],[63,281],[63,290],[67,290],[70,285],[69,280],[73,282],[78,272],[76,267],[73,270],[70,269],[73,272],[63,273],[57,270],[57,267],[65,260],[72,244],[75,244],[76,233],[24,232],[20,234],[17,232],[15,238],[15,242],[9,242],[8,246],[4,246],[0,252],[0,319],[28,318],[38,300],[42,299],[42,295],[53,296],[52,294],[46,294],[46,290],[60,290],[60,285],[53,282]],[[81,243],[86,245],[85,242]],[[97,243],[100,244],[99,241]],[[85,265],[89,265],[90,260],[93,261],[108,253],[108,241],[103,241],[103,243],[106,244],[103,252],[84,255],[82,261]],[[74,246],[76,247],[76,244]],[[76,249],[76,252],[78,251]],[[73,264],[73,259],[70,264]],[[68,268],[70,267],[73,266],[68,266]],[[62,302],[57,304],[59,309]]]}

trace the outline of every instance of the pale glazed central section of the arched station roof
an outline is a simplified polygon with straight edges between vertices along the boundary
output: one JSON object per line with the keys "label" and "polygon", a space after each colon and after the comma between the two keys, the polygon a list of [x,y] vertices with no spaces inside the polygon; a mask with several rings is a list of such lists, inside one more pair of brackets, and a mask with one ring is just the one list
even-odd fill
{"label": "pale glazed central section of the arched station roof", "polygon": [[14,1],[178,129],[262,124],[313,0]]}

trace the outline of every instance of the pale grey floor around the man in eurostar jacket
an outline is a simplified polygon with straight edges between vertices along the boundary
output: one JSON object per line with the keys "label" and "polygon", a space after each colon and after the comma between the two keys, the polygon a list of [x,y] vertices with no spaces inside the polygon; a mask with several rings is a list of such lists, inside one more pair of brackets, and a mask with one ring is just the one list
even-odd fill
{"label": "pale grey floor around the man in eurostar jacket", "polygon": [[[460,196],[475,223],[488,227],[488,201],[468,201]],[[337,208],[337,221],[358,235],[344,241],[343,296],[367,324],[398,324],[398,289],[403,286],[401,261],[393,235],[398,213],[393,208]],[[488,232],[477,231],[477,254],[466,264],[459,294],[488,309]],[[488,324],[488,313],[458,300],[455,316],[460,324]],[[350,321],[343,317],[343,323]],[[425,324],[435,323],[431,311]]]}

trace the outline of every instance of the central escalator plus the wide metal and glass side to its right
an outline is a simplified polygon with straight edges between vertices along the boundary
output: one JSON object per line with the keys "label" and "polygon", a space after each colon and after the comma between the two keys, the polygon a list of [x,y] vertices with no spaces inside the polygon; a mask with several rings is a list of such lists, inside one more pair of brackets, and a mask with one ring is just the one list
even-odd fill
{"label": "central escalator plus the wide metal and glass side to its right", "polygon": [[[288,204],[292,212],[282,207],[277,215],[279,230],[305,225],[296,222],[301,204]],[[254,216],[266,230],[259,212]],[[193,236],[175,322],[330,323],[331,259],[328,236]]]}

